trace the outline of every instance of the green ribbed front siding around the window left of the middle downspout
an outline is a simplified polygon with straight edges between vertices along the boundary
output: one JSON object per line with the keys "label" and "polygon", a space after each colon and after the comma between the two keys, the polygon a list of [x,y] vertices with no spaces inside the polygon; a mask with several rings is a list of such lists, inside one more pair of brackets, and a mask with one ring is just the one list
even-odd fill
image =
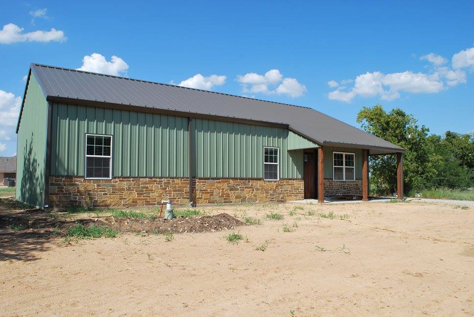
{"label": "green ribbed front siding around the window left of the middle downspout", "polygon": [[52,175],[84,175],[85,134],[113,135],[113,176],[187,177],[188,118],[53,104]]}

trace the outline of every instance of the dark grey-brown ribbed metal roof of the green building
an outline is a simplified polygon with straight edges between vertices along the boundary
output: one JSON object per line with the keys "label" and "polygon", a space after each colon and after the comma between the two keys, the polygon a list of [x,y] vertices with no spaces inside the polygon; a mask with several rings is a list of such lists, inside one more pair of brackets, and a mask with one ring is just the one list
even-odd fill
{"label": "dark grey-brown ribbed metal roof of the green building", "polygon": [[52,102],[88,101],[278,123],[323,146],[367,148],[370,154],[404,151],[311,108],[40,64],[30,69]]}

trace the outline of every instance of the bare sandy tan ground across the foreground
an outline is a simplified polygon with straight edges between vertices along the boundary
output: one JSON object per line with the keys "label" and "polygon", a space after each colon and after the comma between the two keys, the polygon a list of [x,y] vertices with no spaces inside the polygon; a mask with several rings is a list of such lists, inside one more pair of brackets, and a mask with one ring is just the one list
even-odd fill
{"label": "bare sandy tan ground across the foreground", "polygon": [[[0,315],[474,315],[473,207],[201,209],[241,220],[252,216],[261,225],[174,234],[171,242],[163,234],[133,233],[69,242],[54,235],[28,239],[1,227]],[[272,212],[284,219],[265,217]],[[334,219],[320,215],[330,212]],[[284,232],[285,224],[294,231]],[[229,243],[225,236],[234,231],[248,242]],[[264,251],[256,250],[265,242]]]}

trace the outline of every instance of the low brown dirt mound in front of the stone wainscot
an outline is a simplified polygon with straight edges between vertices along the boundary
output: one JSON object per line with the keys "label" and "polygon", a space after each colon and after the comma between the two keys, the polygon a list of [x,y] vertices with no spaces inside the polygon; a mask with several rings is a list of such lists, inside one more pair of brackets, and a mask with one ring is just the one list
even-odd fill
{"label": "low brown dirt mound in front of the stone wainscot", "polygon": [[234,229],[245,224],[226,213],[213,216],[179,217],[167,219],[111,219],[109,226],[119,229],[120,232],[147,232],[147,233],[185,233],[185,232],[214,232]]}

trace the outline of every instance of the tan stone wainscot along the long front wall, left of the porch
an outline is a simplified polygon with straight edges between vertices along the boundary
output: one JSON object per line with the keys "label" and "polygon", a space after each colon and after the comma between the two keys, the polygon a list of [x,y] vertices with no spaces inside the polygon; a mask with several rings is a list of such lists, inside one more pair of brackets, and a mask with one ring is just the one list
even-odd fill
{"label": "tan stone wainscot along the long front wall, left of the porch", "polygon": [[[194,179],[196,204],[286,202],[304,198],[302,179]],[[86,180],[81,177],[49,178],[52,207],[154,206],[169,199],[189,204],[189,178],[114,178]]]}

